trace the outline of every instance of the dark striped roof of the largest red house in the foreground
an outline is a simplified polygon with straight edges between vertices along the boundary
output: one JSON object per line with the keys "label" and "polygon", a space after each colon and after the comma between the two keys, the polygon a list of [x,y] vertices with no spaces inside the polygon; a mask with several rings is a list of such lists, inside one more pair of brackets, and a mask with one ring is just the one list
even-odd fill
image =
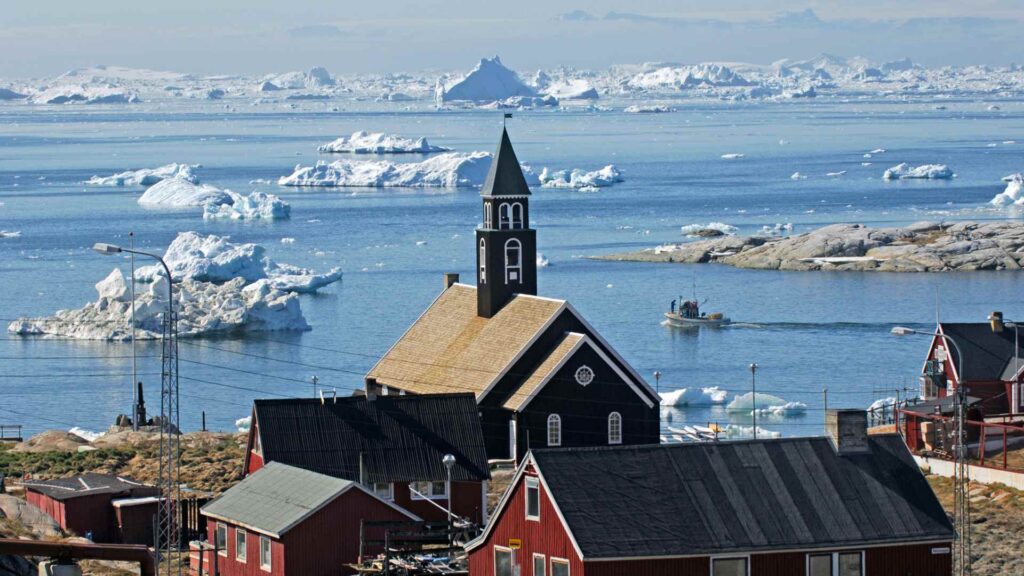
{"label": "dark striped roof of the largest red house in the foreground", "polygon": [[896,435],[839,456],[826,438],[536,450],[585,559],[950,540]]}

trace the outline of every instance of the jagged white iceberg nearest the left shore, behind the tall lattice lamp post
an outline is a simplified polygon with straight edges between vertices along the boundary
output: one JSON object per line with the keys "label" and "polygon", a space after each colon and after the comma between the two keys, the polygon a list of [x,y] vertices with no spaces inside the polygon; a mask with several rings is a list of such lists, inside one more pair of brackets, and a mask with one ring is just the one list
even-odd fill
{"label": "jagged white iceberg nearest the left shore, behind the tall lattice lamp post", "polygon": [[[270,330],[309,330],[297,294],[284,292],[263,279],[247,284],[236,278],[223,284],[175,282],[178,335]],[[99,298],[78,310],[62,310],[48,318],[22,318],[7,331],[26,336],[59,336],[86,340],[128,340],[132,337],[132,302],[119,269],[96,285]],[[167,311],[167,280],[136,291],[135,337],[161,337]]]}

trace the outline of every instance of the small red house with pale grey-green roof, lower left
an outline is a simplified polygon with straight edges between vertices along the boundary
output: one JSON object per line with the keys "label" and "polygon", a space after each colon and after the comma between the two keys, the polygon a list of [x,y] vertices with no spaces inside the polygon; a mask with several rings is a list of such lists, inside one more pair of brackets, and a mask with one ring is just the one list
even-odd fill
{"label": "small red house with pale grey-green roof, lower left", "polygon": [[[203,506],[209,541],[194,574],[352,574],[360,520],[418,521],[358,483],[270,462]],[[198,548],[194,546],[194,552]],[[202,561],[202,570],[200,570]]]}

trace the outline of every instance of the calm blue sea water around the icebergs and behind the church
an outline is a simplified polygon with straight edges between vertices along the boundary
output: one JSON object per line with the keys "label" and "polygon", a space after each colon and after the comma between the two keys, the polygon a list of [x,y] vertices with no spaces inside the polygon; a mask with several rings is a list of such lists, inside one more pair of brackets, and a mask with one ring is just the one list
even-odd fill
{"label": "calm blue sea water around the icebergs and behind the church", "polygon": [[[927,342],[891,336],[892,326],[931,327],[937,301],[949,321],[983,321],[993,310],[1019,318],[1022,277],[776,273],[586,256],[677,242],[679,228],[694,222],[742,232],[792,222],[802,232],[846,221],[1007,217],[984,205],[1001,192],[1001,176],[1024,170],[1024,105],[989,112],[980,101],[944,104],[943,111],[927,102],[813,101],[684,104],[659,115],[517,113],[509,130],[521,161],[537,169],[611,163],[626,178],[594,194],[535,191],[532,223],[551,260],[540,272],[541,294],[569,299],[652,384],[660,371],[663,390],[717,385],[741,394],[756,362],[759,392],[809,407],[803,416],[759,423],[784,435],[820,434],[823,388],[831,406],[864,407],[915,385]],[[317,145],[355,130],[493,151],[502,122],[493,111],[237,108],[0,106],[0,230],[22,233],[0,239],[3,325],[94,300],[93,285],[113,265],[128,264],[89,246],[126,243],[129,231],[152,250],[196,230],[263,244],[279,261],[344,268],[342,283],[301,297],[310,332],[182,340],[187,429],[204,411],[210,427],[230,429],[254,398],[311,394],[313,375],[347,394],[438,293],[442,273],[472,278],[475,191],[305,191],[279,188],[279,176],[315,162]],[[887,152],[863,158],[877,148]],[[196,210],[140,208],[139,189],[81,183],[169,162],[202,164],[203,181],[217,187],[272,192],[292,204],[292,218],[204,221]],[[958,176],[882,180],[899,162],[946,163]],[[791,179],[796,171],[807,179]],[[283,244],[286,237],[294,244]],[[691,332],[662,326],[669,300],[689,294],[693,282],[710,298],[707,310],[738,324]],[[140,345],[139,355],[156,407],[159,346]],[[122,343],[0,335],[0,423],[22,423],[29,434],[105,428],[129,409],[130,357]],[[673,424],[749,419],[730,419],[721,408],[666,412],[670,417]]]}

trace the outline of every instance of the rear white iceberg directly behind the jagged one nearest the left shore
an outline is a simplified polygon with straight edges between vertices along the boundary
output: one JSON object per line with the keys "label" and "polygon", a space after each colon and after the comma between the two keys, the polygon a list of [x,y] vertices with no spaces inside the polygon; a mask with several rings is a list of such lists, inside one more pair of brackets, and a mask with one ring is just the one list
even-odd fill
{"label": "rear white iceberg directly behind the jagged one nearest the left shore", "polygon": [[[175,281],[220,283],[242,278],[248,283],[267,280],[272,288],[286,292],[315,292],[342,278],[339,268],[316,274],[271,260],[259,244],[234,244],[226,237],[203,236],[196,232],[178,234],[167,247],[164,261]],[[154,282],[163,275],[163,268],[157,265],[135,271],[135,279],[139,282]]]}

